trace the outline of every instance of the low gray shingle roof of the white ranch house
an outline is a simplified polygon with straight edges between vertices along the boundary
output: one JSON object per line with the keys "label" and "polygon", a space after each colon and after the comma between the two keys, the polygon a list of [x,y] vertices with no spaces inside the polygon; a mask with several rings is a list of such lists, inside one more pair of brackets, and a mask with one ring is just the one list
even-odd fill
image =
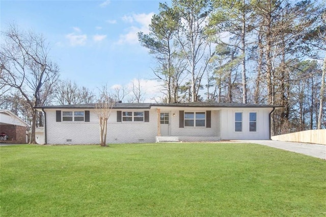
{"label": "low gray shingle roof of the white ranch house", "polygon": [[[280,105],[267,104],[244,104],[244,103],[219,103],[219,102],[184,102],[184,103],[119,103],[117,102],[113,108],[151,108],[155,107],[282,107]],[[74,105],[49,105],[38,106],[35,108],[95,108],[93,104],[74,104]]]}

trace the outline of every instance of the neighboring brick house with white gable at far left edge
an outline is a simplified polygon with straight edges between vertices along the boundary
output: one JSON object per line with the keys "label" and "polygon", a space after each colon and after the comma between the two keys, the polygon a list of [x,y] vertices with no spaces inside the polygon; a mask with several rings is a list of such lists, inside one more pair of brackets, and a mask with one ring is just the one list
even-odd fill
{"label": "neighboring brick house with white gable at far left edge", "polygon": [[27,143],[26,127],[30,125],[10,110],[0,110],[0,142]]}

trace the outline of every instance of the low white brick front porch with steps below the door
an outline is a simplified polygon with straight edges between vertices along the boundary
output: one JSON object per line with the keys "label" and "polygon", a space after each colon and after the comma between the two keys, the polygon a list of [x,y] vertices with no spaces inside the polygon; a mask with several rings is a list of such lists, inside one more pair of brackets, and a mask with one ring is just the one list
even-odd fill
{"label": "low white brick front porch with steps below the door", "polygon": [[178,142],[217,142],[221,141],[221,137],[168,137],[168,136],[157,136],[157,143],[178,143]]}

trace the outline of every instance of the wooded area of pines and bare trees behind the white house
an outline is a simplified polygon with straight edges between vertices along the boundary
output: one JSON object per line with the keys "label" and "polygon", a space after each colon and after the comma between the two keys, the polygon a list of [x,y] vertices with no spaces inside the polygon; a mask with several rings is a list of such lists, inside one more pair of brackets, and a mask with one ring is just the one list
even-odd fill
{"label": "wooded area of pines and bare trees behind the white house", "polygon": [[[273,134],[326,128],[324,3],[173,0],[158,8],[149,34],[138,37],[155,60],[161,102],[282,105],[273,113]],[[99,98],[87,87],[60,80],[42,35],[15,24],[2,34],[0,107],[31,123],[32,133],[43,125],[34,106]],[[130,89],[102,90],[115,101],[144,102],[139,79]]]}

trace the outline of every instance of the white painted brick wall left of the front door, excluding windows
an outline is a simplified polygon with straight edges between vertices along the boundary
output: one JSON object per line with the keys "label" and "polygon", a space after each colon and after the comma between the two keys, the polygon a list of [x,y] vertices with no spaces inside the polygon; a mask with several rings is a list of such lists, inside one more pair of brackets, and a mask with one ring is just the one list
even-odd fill
{"label": "white painted brick wall left of the front door, excluding windows", "polygon": [[[46,112],[47,144],[99,144],[99,121],[93,109],[61,109],[61,112],[90,111],[90,122],[56,122],[56,110]],[[144,109],[119,111],[143,112]],[[157,132],[156,111],[149,112],[149,122],[117,122],[117,110],[112,110],[107,122],[106,143],[152,143]]]}

